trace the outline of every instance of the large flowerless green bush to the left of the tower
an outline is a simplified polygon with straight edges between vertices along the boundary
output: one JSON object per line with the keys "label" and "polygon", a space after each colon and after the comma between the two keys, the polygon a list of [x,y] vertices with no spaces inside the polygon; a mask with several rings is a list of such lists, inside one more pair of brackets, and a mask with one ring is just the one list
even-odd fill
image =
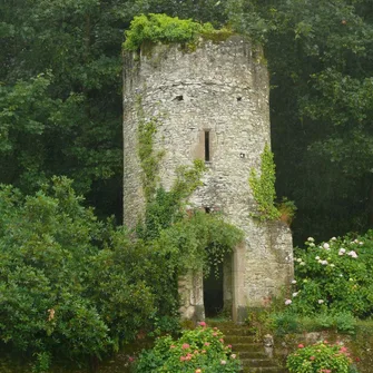
{"label": "large flowerless green bush to the left of the tower", "polygon": [[108,247],[119,234],[80,203],[66,178],[28,197],[0,187],[0,335],[35,353],[36,371],[115,350],[154,312],[149,286]]}

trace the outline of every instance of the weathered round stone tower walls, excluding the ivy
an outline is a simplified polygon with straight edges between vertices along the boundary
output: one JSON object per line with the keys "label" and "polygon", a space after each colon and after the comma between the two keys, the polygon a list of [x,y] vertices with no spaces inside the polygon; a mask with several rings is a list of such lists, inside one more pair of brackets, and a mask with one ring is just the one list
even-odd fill
{"label": "weathered round stone tower walls, excluding the ivy", "polygon": [[[145,117],[161,117],[154,139],[154,148],[164,150],[160,184],[170,188],[178,166],[204,159],[204,186],[190,205],[222,212],[245,233],[245,242],[224,263],[222,285],[225,308],[241,321],[247,307],[267,304],[293,277],[288,227],[251,217],[256,203],[248,175],[251,168],[258,169],[271,141],[268,73],[262,51],[234,36],[220,42],[203,40],[188,52],[178,45],[157,45],[140,56],[126,53],[124,217],[129,227],[145,205],[137,155],[138,97]],[[204,317],[203,286],[202,274],[180,278],[185,317]]]}

